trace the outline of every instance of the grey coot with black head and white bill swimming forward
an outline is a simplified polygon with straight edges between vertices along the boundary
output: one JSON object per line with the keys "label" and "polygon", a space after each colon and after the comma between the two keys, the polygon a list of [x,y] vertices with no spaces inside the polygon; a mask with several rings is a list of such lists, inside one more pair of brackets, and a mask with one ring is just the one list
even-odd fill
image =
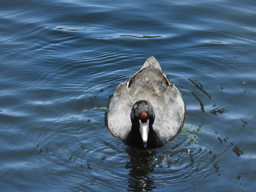
{"label": "grey coot with black head and white bill swimming forward", "polygon": [[140,71],[116,87],[109,103],[108,129],[133,147],[156,148],[179,134],[185,115],[179,90],[151,56]]}

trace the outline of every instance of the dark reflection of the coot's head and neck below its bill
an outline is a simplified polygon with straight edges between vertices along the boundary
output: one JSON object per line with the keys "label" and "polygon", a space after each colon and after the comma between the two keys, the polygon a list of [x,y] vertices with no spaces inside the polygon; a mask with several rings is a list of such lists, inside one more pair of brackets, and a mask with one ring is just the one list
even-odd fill
{"label": "dark reflection of the coot's head and neck below its bill", "polygon": [[149,177],[153,172],[153,167],[148,158],[154,155],[146,150],[137,150],[127,146],[127,154],[130,161],[126,163],[125,168],[129,170],[131,178],[128,179],[129,188],[127,191],[151,191],[156,188],[154,181]]}

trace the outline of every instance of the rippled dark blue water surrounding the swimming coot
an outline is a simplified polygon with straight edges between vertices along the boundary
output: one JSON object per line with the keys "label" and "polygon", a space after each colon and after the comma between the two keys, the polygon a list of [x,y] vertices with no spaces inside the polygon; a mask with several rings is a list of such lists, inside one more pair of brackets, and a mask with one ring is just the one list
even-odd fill
{"label": "rippled dark blue water surrounding the swimming coot", "polygon": [[[1,1],[0,191],[253,191],[256,2]],[[187,109],[151,154],[109,135],[154,55]]]}

